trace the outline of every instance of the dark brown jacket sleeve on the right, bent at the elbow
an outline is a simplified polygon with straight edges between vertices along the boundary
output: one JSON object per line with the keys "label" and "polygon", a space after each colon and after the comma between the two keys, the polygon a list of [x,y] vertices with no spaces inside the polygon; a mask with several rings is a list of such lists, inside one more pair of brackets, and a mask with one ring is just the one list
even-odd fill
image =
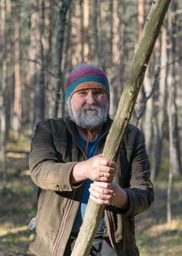
{"label": "dark brown jacket sleeve on the right, bent at the elbow", "polygon": [[124,217],[133,217],[147,210],[154,200],[153,184],[150,181],[149,161],[144,134],[137,130],[135,141],[129,144],[130,182],[124,188],[128,197],[128,209]]}

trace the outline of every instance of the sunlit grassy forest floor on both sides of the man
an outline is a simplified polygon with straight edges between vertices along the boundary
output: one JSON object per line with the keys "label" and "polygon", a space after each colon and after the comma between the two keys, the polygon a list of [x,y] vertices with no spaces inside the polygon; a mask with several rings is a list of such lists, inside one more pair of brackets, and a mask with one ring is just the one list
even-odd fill
{"label": "sunlit grassy forest floor on both sides of the man", "polygon": [[[26,143],[29,144],[28,139]],[[29,150],[27,145],[25,150]],[[167,162],[162,169],[154,184],[155,202],[147,212],[136,217],[136,244],[141,256],[182,255],[182,178],[173,181],[172,221],[167,224]],[[33,255],[28,246],[35,233],[28,229],[28,224],[35,217],[36,203],[27,154],[8,153],[6,183],[0,182],[0,191],[3,187],[0,256]]]}

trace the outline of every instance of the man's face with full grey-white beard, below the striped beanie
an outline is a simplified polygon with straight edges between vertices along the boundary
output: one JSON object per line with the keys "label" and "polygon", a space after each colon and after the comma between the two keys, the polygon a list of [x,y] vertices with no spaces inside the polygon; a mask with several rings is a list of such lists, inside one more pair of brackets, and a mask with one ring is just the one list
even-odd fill
{"label": "man's face with full grey-white beard, below the striped beanie", "polygon": [[71,109],[76,125],[94,130],[106,122],[109,104],[101,89],[76,91],[71,98]]}

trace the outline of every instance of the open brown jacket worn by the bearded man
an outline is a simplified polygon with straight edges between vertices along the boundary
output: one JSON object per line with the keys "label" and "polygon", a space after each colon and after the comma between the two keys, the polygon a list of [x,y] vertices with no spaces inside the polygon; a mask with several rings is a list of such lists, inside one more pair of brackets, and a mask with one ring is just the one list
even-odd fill
{"label": "open brown jacket worn by the bearded man", "polygon": [[[97,144],[97,154],[103,151],[111,123],[108,119],[105,124],[105,133]],[[30,153],[30,174],[35,184],[41,187],[35,220],[36,236],[30,245],[30,251],[37,256],[64,255],[84,187],[84,182],[72,186],[70,173],[73,166],[83,160],[86,160],[86,153],[79,143],[75,123],[68,118],[37,123]],[[117,255],[136,256],[139,252],[134,217],[149,208],[154,194],[144,135],[131,124],[117,164],[119,172],[115,181],[126,190],[129,207],[125,212],[106,207],[106,228]]]}

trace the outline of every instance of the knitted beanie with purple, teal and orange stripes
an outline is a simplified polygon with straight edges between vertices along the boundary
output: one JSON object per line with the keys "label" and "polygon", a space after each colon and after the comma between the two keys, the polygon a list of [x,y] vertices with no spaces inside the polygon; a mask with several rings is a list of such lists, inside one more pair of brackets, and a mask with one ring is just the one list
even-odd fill
{"label": "knitted beanie with purple, teal and orange stripes", "polygon": [[108,80],[105,72],[90,64],[81,64],[76,67],[68,76],[66,82],[66,102],[70,108],[70,100],[76,91],[82,89],[102,89],[109,99]]}

